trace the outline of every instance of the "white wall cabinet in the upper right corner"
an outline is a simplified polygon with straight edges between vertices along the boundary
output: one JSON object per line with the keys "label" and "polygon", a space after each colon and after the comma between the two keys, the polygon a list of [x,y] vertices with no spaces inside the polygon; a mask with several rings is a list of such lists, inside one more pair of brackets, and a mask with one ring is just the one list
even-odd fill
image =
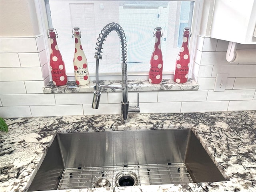
{"label": "white wall cabinet in the upper right corner", "polygon": [[256,0],[215,0],[210,37],[256,44]]}

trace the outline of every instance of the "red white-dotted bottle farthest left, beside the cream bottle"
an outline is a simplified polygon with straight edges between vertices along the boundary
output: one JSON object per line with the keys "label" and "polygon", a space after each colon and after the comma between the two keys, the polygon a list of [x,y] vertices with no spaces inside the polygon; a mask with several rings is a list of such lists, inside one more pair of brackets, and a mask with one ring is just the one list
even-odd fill
{"label": "red white-dotted bottle farthest left, beside the cream bottle", "polygon": [[49,28],[48,37],[51,38],[50,68],[53,84],[56,86],[66,85],[68,79],[66,75],[65,64],[56,41],[58,34],[56,36],[54,28]]}

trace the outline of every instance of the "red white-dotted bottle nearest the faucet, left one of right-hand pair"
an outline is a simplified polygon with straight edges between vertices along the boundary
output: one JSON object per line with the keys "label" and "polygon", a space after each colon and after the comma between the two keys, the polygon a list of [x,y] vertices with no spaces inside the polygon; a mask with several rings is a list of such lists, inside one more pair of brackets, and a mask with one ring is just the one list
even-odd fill
{"label": "red white-dotted bottle nearest the faucet, left one of right-hand pair", "polygon": [[161,27],[155,28],[156,36],[154,50],[150,59],[150,70],[148,81],[152,84],[159,84],[162,81],[163,55],[161,50]]}

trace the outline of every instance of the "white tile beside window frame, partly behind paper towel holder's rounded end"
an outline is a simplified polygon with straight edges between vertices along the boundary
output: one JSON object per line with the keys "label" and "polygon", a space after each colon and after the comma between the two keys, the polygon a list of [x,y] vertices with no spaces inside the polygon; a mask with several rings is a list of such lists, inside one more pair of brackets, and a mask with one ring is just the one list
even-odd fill
{"label": "white tile beside window frame, partly behind paper towel holder's rounded end", "polygon": [[226,52],[202,52],[200,65],[234,65],[234,63],[226,60]]}

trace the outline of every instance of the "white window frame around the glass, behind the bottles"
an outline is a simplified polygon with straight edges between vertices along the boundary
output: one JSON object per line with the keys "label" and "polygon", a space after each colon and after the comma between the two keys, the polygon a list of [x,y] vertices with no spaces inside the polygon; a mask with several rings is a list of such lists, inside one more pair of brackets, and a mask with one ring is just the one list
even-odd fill
{"label": "white window frame around the glass, behind the bottles", "polygon": [[[106,1],[106,0],[103,0]],[[133,0],[129,0],[133,1]],[[199,34],[200,30],[200,15],[202,15],[202,2],[200,0],[163,0],[163,1],[190,1],[190,16],[188,25],[191,28],[192,36],[190,37],[190,43],[189,43],[189,50],[190,50],[190,69],[189,69],[189,76],[188,78],[192,78],[192,71],[194,66],[194,54],[196,52],[196,40],[197,36]],[[37,12],[40,15],[39,18],[42,20],[40,21],[43,25],[48,23],[48,26],[43,27],[43,33],[46,41],[46,50],[47,53],[50,53],[50,41],[47,37],[47,29],[52,26],[52,22],[50,16],[50,5],[48,0],[44,0],[45,7],[43,8],[41,6],[37,6]],[[45,10],[42,10],[45,9]],[[46,15],[42,15],[42,12],[46,12]],[[96,42],[95,42],[96,43]],[[95,60],[96,62],[96,60]],[[49,63],[49,59],[48,59]],[[121,66],[121,65],[120,65]],[[68,80],[75,80],[74,78],[74,72],[66,72],[68,76]],[[100,80],[121,80],[121,67],[120,72],[99,72]],[[163,79],[170,79],[174,75],[174,71],[163,71]],[[134,80],[134,79],[142,79],[146,80],[148,79],[148,72],[129,72],[128,71],[128,80]],[[90,72],[90,80],[95,80],[95,72]]]}

